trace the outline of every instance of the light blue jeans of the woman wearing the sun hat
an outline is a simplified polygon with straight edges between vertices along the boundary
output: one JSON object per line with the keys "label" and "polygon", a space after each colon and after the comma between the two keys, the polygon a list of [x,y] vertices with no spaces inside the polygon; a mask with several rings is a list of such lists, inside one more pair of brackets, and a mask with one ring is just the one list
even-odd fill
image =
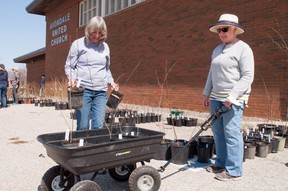
{"label": "light blue jeans of the woman wearing the sun hat", "polygon": [[[211,100],[211,113],[214,113],[221,104],[222,102]],[[215,164],[225,168],[231,176],[243,174],[244,146],[241,133],[243,110],[244,105],[232,105],[231,110],[218,118],[212,126],[217,155]]]}

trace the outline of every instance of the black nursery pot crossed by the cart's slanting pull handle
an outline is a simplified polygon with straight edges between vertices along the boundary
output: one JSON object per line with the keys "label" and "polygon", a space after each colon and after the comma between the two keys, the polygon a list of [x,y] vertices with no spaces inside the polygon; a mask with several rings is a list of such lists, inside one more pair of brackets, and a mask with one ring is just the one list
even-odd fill
{"label": "black nursery pot crossed by the cart's slanting pull handle", "polygon": [[188,141],[186,140],[176,140],[171,143],[171,157],[173,158],[176,154],[177,156],[172,159],[174,164],[186,164],[189,156],[189,145],[187,145],[180,153],[178,153]]}

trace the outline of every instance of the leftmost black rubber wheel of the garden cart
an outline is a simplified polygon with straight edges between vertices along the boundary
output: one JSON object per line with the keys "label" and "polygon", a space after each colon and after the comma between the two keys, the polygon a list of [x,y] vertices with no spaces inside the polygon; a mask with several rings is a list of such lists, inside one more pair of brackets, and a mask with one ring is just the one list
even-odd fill
{"label": "leftmost black rubber wheel of the garden cart", "polygon": [[60,191],[60,190],[66,191],[67,190],[68,191],[74,185],[75,177],[70,171],[65,170],[65,169],[64,169],[64,178],[69,177],[67,179],[67,183],[65,187],[61,189],[60,186],[59,188],[52,186],[53,182],[60,183],[60,171],[61,171],[61,167],[59,165],[53,166],[49,170],[47,170],[41,179],[41,184],[38,187],[38,190],[41,190],[41,191]]}

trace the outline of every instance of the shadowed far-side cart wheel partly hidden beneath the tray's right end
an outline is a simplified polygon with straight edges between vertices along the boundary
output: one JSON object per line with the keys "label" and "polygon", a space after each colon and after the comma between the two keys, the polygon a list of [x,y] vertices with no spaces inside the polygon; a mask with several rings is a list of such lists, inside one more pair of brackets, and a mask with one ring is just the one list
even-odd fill
{"label": "shadowed far-side cart wheel partly hidden beneath the tray's right end", "polygon": [[108,170],[110,176],[119,182],[125,182],[129,179],[130,174],[136,168],[136,164],[123,165]]}

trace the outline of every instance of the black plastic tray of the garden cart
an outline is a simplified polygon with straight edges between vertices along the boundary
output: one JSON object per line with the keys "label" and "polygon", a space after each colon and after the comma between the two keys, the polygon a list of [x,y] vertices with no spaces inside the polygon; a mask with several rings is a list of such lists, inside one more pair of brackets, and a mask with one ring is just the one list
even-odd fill
{"label": "black plastic tray of the garden cart", "polygon": [[[118,138],[120,133],[122,139]],[[42,134],[37,140],[52,160],[74,175],[81,175],[150,160],[163,136],[162,132],[138,127],[114,127],[73,131],[71,143],[65,142],[65,132]],[[84,140],[83,146],[79,146],[80,139]]]}

